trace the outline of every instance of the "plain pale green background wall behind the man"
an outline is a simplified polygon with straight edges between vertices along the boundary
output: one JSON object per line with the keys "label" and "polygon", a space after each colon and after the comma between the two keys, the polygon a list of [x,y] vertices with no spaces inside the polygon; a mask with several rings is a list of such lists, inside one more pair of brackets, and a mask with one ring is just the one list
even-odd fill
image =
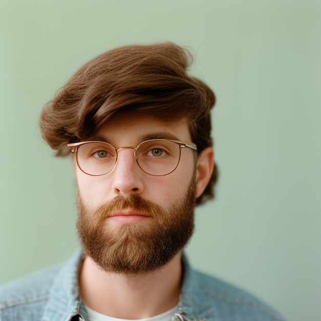
{"label": "plain pale green background wall behind the man", "polygon": [[99,53],[173,41],[217,95],[220,179],[192,265],[321,319],[319,1],[2,0],[0,28],[0,284],[78,246],[71,160],[42,141],[42,106]]}

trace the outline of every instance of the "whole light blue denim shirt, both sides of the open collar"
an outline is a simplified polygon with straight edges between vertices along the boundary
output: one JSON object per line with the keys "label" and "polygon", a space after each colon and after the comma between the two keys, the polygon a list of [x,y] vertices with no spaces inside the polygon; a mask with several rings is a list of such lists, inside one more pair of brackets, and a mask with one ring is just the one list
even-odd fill
{"label": "whole light blue denim shirt, both sides of the open collar", "polygon": [[[0,321],[90,321],[79,296],[83,253],[46,271],[0,287]],[[284,319],[250,294],[191,269],[183,255],[184,282],[172,321]]]}

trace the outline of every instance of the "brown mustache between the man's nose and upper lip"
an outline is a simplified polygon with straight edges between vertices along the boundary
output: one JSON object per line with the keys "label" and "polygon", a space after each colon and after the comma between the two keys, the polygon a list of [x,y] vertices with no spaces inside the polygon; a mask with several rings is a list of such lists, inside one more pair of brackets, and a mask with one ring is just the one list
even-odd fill
{"label": "brown mustache between the man's nose and upper lip", "polygon": [[158,218],[163,212],[162,208],[150,202],[147,199],[138,195],[130,195],[128,197],[116,196],[112,200],[103,204],[95,210],[95,215],[103,220],[109,216],[112,216],[116,212],[120,212],[125,209],[131,209],[137,212],[142,212],[145,215],[153,218]]}

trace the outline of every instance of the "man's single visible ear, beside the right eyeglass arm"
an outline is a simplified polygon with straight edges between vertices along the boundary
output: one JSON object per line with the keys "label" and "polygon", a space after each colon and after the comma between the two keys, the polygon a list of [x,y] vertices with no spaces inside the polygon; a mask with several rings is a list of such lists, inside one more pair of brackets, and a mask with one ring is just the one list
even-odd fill
{"label": "man's single visible ear, beside the right eyeglass arm", "polygon": [[196,167],[196,198],[204,192],[214,169],[214,150],[205,148],[198,156]]}

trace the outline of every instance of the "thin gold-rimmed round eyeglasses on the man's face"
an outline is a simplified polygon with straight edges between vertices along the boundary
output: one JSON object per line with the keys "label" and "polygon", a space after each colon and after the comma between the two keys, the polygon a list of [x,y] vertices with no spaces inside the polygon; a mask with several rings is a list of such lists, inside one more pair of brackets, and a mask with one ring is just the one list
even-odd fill
{"label": "thin gold-rimmed round eyeglasses on the man's face", "polygon": [[85,174],[100,176],[109,173],[117,162],[117,151],[130,148],[138,166],[147,174],[163,176],[173,172],[180,159],[180,150],[188,147],[197,151],[194,143],[150,139],[137,147],[114,148],[105,142],[79,142],[67,145],[76,158],[79,169]]}

